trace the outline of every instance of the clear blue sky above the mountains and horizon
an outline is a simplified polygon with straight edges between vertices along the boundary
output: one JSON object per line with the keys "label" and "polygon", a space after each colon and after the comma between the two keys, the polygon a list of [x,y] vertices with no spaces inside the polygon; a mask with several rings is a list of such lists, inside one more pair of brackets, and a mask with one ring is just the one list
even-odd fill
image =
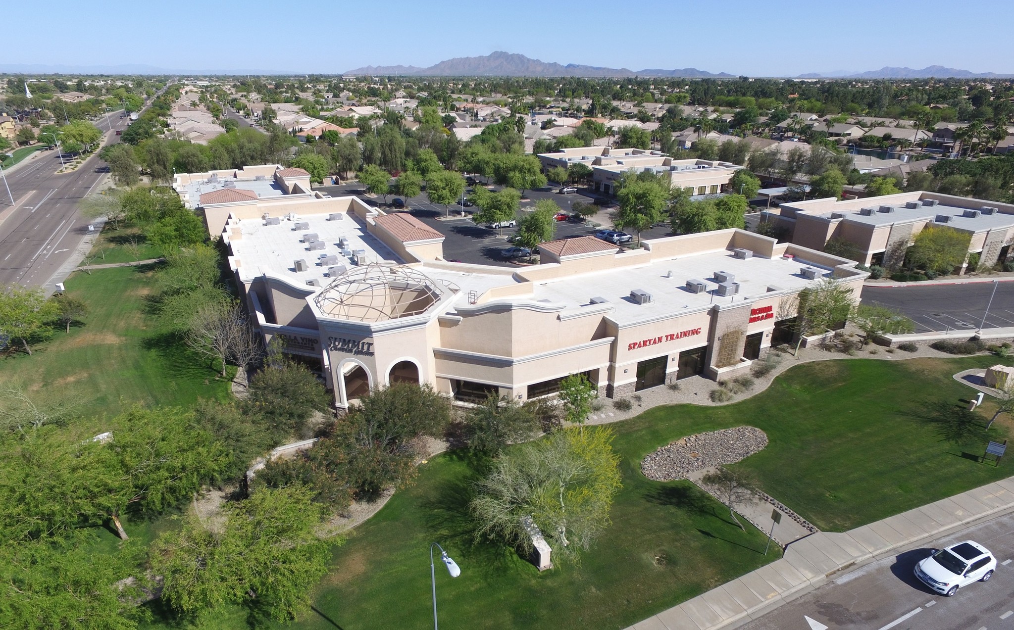
{"label": "clear blue sky above the mountains and horizon", "polygon": [[338,73],[507,51],[753,76],[932,64],[1014,73],[1010,0],[7,4],[15,27],[5,28],[0,63],[11,64]]}

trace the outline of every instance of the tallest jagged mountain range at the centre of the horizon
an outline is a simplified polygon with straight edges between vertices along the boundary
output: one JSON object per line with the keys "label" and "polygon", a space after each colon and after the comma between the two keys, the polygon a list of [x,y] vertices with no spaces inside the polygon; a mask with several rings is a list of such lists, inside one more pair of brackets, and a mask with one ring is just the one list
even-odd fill
{"label": "tallest jagged mountain range at the centre of the horizon", "polygon": [[484,57],[457,57],[442,61],[429,68],[416,66],[366,66],[345,74],[368,75],[415,75],[429,77],[687,77],[687,78],[732,78],[735,75],[720,72],[713,74],[697,68],[682,70],[628,70],[627,68],[602,68],[582,64],[548,63],[530,59],[516,53],[497,51]]}

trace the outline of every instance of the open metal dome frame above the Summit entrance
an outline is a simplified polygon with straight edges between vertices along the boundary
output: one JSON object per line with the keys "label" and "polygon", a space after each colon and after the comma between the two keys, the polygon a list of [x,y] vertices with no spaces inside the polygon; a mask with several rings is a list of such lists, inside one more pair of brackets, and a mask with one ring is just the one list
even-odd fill
{"label": "open metal dome frame above the Summit entrance", "polygon": [[[408,304],[406,294],[416,294]],[[443,295],[437,282],[410,266],[370,262],[336,278],[313,303],[329,317],[381,322],[425,313]]]}

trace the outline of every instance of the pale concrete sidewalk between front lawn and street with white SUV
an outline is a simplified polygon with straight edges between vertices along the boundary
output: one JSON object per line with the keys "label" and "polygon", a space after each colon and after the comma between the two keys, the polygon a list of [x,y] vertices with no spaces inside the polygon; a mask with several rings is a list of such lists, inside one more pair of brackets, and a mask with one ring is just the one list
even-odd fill
{"label": "pale concrete sidewalk between front lawn and street with white SUV", "polygon": [[1014,510],[1014,477],[955,494],[844,534],[818,532],[789,545],[784,557],[628,630],[735,628],[827,581],[843,569],[894,554],[902,547]]}

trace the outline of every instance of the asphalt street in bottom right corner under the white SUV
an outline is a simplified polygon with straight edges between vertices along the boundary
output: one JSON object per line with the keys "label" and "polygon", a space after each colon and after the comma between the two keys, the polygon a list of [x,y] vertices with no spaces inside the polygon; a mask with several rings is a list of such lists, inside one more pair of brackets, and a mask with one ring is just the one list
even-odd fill
{"label": "asphalt street in bottom right corner under the white SUV", "polygon": [[1014,630],[1014,515],[935,541],[933,547],[969,539],[993,552],[997,571],[990,581],[973,582],[952,598],[937,595],[913,575],[916,563],[931,553],[923,547],[846,573],[740,628]]}

